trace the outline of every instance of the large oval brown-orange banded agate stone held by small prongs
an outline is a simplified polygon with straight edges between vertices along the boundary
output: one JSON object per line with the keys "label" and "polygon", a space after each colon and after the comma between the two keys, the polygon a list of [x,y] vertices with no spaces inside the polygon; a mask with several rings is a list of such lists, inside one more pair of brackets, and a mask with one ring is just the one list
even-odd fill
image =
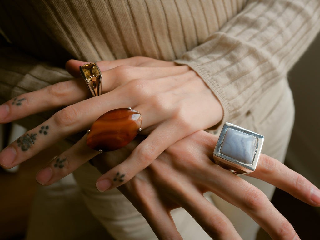
{"label": "large oval brown-orange banded agate stone held by small prongs", "polygon": [[122,148],[138,134],[141,122],[141,114],[130,108],[118,108],[106,112],[90,128],[87,145],[97,151],[114,151]]}

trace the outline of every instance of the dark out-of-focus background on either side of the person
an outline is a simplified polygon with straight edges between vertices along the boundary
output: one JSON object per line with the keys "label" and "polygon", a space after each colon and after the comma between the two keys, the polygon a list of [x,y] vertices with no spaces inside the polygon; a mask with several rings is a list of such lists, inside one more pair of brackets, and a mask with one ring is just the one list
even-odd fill
{"label": "dark out-of-focus background on either side of the person", "polygon": [[[285,164],[320,187],[320,35],[289,73],[296,107]],[[5,131],[5,126],[4,131]],[[9,133],[7,133],[9,134]],[[20,136],[20,135],[19,135]],[[17,137],[19,137],[17,136]],[[1,143],[0,143],[1,144]],[[36,192],[36,172],[58,149],[53,146],[22,163],[15,173],[0,168],[0,240],[22,240]],[[320,209],[277,189],[272,199],[302,240],[320,239]],[[271,239],[262,229],[257,240]]]}

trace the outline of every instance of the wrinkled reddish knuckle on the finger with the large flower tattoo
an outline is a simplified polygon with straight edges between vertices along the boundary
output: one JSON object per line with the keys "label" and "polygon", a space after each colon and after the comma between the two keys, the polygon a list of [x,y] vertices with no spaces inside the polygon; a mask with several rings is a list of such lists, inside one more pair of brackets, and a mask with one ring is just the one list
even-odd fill
{"label": "wrinkled reddish knuckle on the finger with the large flower tattoo", "polygon": [[57,126],[68,127],[75,123],[79,115],[76,108],[71,105],[55,113],[53,119]]}

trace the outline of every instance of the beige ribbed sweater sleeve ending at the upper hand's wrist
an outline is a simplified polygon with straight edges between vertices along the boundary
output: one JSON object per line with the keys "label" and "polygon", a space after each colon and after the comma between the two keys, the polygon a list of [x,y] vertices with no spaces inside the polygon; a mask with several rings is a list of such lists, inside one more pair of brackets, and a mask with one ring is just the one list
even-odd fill
{"label": "beige ribbed sweater sleeve ending at the upper hand's wrist", "polygon": [[248,1],[175,62],[190,66],[212,89],[224,110],[221,123],[232,121],[286,77],[319,29],[319,0]]}

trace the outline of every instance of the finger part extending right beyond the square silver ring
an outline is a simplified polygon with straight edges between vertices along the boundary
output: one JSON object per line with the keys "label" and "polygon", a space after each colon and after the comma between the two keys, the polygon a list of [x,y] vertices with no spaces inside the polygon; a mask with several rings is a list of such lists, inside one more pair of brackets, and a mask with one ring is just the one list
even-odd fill
{"label": "finger part extending right beyond the square silver ring", "polygon": [[320,206],[320,190],[315,185],[268,155],[260,154],[258,166],[249,176],[269,182],[309,205]]}

